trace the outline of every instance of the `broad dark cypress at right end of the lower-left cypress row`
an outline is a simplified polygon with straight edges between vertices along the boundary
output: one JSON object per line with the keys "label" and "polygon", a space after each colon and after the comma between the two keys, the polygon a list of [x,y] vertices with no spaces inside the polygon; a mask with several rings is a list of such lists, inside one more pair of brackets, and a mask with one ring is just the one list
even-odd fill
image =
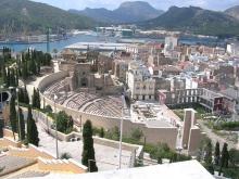
{"label": "broad dark cypress at right end of the lower-left cypress row", "polygon": [[27,115],[27,142],[38,146],[39,138],[35,120],[33,119],[32,107],[28,106]]}

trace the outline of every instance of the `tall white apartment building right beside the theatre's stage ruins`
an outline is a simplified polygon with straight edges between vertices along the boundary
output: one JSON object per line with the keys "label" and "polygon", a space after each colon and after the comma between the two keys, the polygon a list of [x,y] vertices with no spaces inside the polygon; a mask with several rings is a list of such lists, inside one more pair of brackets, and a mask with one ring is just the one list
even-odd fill
{"label": "tall white apartment building right beside the theatre's stage ruins", "polygon": [[129,63],[126,78],[131,99],[154,100],[155,79],[152,78],[148,67],[141,61]]}

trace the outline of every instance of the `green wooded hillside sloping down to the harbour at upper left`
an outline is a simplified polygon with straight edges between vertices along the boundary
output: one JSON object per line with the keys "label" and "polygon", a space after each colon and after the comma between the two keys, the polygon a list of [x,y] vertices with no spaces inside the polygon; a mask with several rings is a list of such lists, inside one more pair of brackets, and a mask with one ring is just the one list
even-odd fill
{"label": "green wooded hillside sloping down to the harbour at upper left", "polygon": [[0,0],[0,29],[7,33],[45,33],[58,29],[90,28],[95,21],[67,11],[28,0]]}

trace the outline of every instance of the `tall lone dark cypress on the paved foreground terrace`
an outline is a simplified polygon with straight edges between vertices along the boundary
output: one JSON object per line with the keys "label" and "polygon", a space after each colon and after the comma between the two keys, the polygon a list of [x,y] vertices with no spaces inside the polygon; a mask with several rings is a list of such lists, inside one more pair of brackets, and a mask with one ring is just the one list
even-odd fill
{"label": "tall lone dark cypress on the paved foreground terrace", "polygon": [[84,124],[83,143],[83,165],[88,166],[90,172],[98,171],[93,149],[92,125],[90,120]]}

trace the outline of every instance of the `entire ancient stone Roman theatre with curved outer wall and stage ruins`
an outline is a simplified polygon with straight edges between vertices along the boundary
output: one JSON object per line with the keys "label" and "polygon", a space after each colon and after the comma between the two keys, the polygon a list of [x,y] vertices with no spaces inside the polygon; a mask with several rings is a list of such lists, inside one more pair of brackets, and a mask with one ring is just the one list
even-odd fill
{"label": "entire ancient stone Roman theatre with curved outer wall and stage ruins", "polygon": [[[46,76],[38,85],[43,105],[65,111],[77,127],[90,119],[95,127],[109,130],[120,128],[123,119],[123,135],[130,135],[139,128],[147,143],[165,142],[172,149],[181,145],[184,124],[177,115],[159,102],[135,102],[126,107],[122,99],[124,85],[114,78],[111,71],[105,73],[105,69],[98,68],[93,72],[93,66],[88,62],[61,62],[60,72]],[[196,132],[198,138],[198,130]],[[188,132],[187,138],[190,135]],[[188,145],[191,152],[197,148],[197,144]]]}

